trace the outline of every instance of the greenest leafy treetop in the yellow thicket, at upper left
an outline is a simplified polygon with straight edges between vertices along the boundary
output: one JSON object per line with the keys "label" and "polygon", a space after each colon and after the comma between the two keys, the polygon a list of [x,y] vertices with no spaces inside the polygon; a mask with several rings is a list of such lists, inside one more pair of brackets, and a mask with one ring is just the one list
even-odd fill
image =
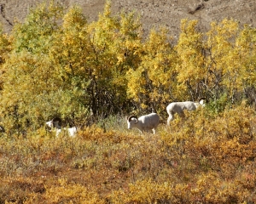
{"label": "greenest leafy treetop in the yellow thicket, at upper left", "polygon": [[24,23],[16,23],[13,30],[14,50],[26,50],[32,54],[47,54],[53,40],[52,34],[58,30],[63,8],[54,1],[48,5],[39,4],[31,9]]}

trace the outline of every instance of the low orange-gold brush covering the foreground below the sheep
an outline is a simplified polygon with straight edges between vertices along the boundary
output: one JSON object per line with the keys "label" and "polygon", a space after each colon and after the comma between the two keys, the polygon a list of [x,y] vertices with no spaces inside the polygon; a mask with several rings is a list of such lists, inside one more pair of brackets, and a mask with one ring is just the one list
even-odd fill
{"label": "low orange-gold brush covering the foreground below the sheep", "polygon": [[2,135],[0,203],[255,202],[253,110],[187,115],[156,135],[118,116],[76,138]]}

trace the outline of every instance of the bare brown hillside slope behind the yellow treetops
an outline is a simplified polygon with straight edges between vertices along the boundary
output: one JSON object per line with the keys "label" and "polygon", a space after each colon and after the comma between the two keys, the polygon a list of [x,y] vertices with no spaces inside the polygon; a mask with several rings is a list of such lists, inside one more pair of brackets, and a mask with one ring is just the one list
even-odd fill
{"label": "bare brown hillside slope behind the yellow treetops", "polygon": [[[48,0],[47,0],[48,1]],[[30,8],[34,8],[43,0],[0,0],[0,21],[3,31],[9,32],[15,19],[24,20]],[[96,20],[102,12],[106,0],[61,0],[67,8],[78,4],[83,8],[89,21]],[[135,10],[141,15],[145,33],[154,26],[166,26],[172,36],[179,33],[181,19],[199,20],[201,31],[206,31],[212,20],[232,18],[242,24],[256,26],[255,0],[112,0],[113,14],[121,10]]]}

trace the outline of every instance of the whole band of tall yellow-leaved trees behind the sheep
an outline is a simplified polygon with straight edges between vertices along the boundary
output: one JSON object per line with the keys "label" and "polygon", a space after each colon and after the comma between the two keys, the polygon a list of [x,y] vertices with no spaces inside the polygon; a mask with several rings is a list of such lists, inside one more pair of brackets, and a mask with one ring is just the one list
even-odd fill
{"label": "whole band of tall yellow-leaved trees behind the sheep", "polygon": [[8,34],[0,32],[1,117],[12,131],[54,116],[165,112],[174,100],[207,97],[212,111],[255,103],[256,30],[236,20],[206,33],[182,20],[177,43],[166,28],[143,37],[134,12],[111,14],[107,2],[89,23],[81,8],[39,4]]}

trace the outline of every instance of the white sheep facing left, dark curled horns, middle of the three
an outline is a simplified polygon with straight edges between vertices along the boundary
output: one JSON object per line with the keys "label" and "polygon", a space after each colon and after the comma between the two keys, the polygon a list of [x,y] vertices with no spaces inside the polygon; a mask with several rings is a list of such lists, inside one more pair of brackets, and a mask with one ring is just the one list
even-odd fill
{"label": "white sheep facing left, dark curled horns, middle of the three", "polygon": [[131,129],[132,127],[137,127],[141,133],[149,132],[150,130],[153,131],[155,134],[155,129],[158,127],[160,123],[160,116],[156,113],[150,113],[146,116],[140,116],[137,118],[137,116],[127,116],[127,124],[128,129]]}

